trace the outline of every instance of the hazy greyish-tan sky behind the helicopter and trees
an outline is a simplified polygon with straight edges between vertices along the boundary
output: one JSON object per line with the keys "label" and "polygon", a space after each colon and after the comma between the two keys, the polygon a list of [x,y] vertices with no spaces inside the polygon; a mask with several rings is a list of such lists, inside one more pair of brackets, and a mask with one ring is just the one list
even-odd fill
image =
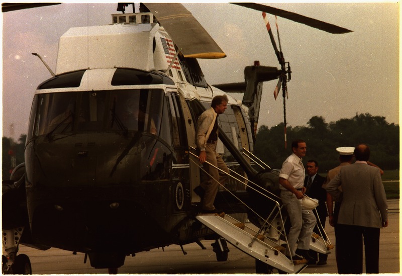
{"label": "hazy greyish-tan sky behind the helicopter and trees", "polygon": [[[384,116],[399,124],[399,5],[266,4],[326,21],[353,33],[333,35],[278,18],[285,60],[290,62],[286,119],[302,126],[313,116],[327,123],[356,113]],[[244,81],[245,66],[278,66],[261,12],[230,4],[184,4],[227,57],[199,60],[210,84]],[[2,13],[3,136],[27,133],[36,87],[51,77],[39,58],[56,68],[58,39],[69,28],[111,23],[116,4],[61,4]],[[126,12],[131,12],[131,6]],[[270,17],[276,37],[275,20]],[[277,39],[277,38],[276,38]],[[282,98],[274,101],[277,81],[264,83],[259,126],[283,122]]]}

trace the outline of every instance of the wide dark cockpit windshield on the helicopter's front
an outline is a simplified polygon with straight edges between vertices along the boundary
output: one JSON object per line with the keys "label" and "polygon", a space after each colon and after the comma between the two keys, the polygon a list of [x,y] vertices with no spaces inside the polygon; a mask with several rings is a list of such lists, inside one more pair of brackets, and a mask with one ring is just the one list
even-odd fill
{"label": "wide dark cockpit windshield on the helicopter's front", "polygon": [[158,135],[162,89],[38,94],[33,134],[140,131]]}

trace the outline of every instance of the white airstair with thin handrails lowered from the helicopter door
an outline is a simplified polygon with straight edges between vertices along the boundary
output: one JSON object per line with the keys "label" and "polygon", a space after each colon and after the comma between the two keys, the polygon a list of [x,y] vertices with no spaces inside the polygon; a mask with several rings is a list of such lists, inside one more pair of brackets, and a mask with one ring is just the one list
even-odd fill
{"label": "white airstair with thin handrails lowered from the helicopter door", "polygon": [[[218,167],[215,168],[222,171]],[[283,206],[280,206],[280,204],[278,203],[278,199],[280,198],[264,188],[260,187],[260,190],[253,188],[252,186],[250,186],[250,183],[254,184],[252,181],[246,179],[244,176],[234,171],[232,172],[235,173],[238,177],[247,180],[248,184],[246,185],[246,183],[244,183],[247,187],[262,194],[267,200],[275,203],[275,207],[273,207],[271,213],[266,219],[262,218],[256,212],[254,212],[259,217],[259,223],[257,223],[256,225],[260,224],[261,228],[258,228],[256,225],[254,225],[254,222],[244,223],[225,213],[198,214],[197,216],[195,216],[195,219],[206,225],[212,231],[217,233],[219,236],[224,238],[226,241],[228,241],[241,251],[254,257],[256,260],[267,264],[271,268],[273,267],[278,269],[279,273],[300,273],[307,266],[307,260],[292,260],[285,255],[287,237],[285,234],[284,220],[281,210]],[[228,175],[230,177],[233,177],[230,174]],[[233,178],[239,181],[239,179],[235,177]],[[222,187],[227,190],[224,186]],[[268,195],[261,193],[261,191],[266,192]],[[277,199],[275,199],[275,197]],[[314,211],[317,212],[317,210]],[[321,225],[321,221],[319,219],[317,223]],[[322,227],[318,227],[318,229],[320,233],[312,233],[310,240],[310,249],[319,253],[329,254],[329,250],[333,249],[334,246],[329,241],[329,238],[324,229],[322,229]],[[323,239],[322,237],[326,237],[326,239]]]}

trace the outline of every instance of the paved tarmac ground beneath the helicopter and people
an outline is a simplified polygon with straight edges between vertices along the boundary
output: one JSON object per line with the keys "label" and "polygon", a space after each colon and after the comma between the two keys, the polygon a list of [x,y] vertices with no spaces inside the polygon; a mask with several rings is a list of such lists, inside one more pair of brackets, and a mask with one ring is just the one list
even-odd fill
{"label": "paved tarmac ground beneath the helicopter and people", "polygon": [[[381,229],[380,234],[380,273],[399,274],[399,201],[388,201],[389,226]],[[330,241],[336,244],[334,228],[327,223],[326,231]],[[119,268],[119,273],[202,273],[202,274],[250,274],[255,273],[255,260],[234,246],[229,244],[229,258],[227,261],[218,262],[212,251],[211,243],[214,241],[202,241],[207,247],[203,250],[195,243],[184,245],[186,255],[180,247],[170,245],[160,249],[152,249],[147,252],[137,253],[135,257],[126,257],[124,266]],[[302,273],[328,274],[337,273],[335,261],[335,249],[328,256],[327,265],[310,265]],[[95,269],[89,264],[83,263],[84,254],[51,248],[41,251],[21,246],[20,253],[27,254],[31,259],[32,272],[34,274],[89,274],[108,273],[107,269]],[[364,271],[364,270],[363,270]],[[274,270],[274,272],[276,272]]]}

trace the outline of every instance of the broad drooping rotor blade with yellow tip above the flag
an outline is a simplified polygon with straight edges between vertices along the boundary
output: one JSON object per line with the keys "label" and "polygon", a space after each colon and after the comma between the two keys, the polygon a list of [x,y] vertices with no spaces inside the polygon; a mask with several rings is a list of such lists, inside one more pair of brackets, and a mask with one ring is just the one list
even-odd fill
{"label": "broad drooping rotor blade with yellow tip above the flag", "polygon": [[147,3],[144,5],[158,19],[184,57],[226,57],[214,39],[183,5],[178,3]]}

